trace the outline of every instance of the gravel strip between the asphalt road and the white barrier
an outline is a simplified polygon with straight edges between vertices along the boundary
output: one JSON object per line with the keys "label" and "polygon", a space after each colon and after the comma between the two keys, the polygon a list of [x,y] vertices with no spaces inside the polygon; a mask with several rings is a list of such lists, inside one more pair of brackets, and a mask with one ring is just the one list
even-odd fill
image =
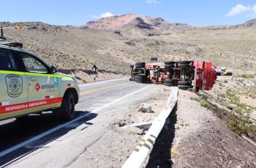
{"label": "gravel strip between the asphalt road and the white barrier", "polygon": [[[69,166],[69,167],[121,167],[130,156],[146,130],[139,128],[123,129],[122,126],[134,123],[153,121],[164,107],[170,94],[170,88],[157,86],[158,94],[152,95],[136,103],[129,110],[122,111],[122,115],[116,116],[109,124],[102,137]],[[142,113],[139,110],[141,104],[152,106],[153,113]],[[146,161],[147,159],[145,159]]]}

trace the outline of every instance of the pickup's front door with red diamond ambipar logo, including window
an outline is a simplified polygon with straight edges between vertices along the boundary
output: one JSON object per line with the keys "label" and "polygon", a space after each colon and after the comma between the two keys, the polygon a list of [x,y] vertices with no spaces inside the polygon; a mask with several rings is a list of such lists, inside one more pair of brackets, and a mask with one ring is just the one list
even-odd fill
{"label": "pickup's front door with red diamond ambipar logo, including window", "polygon": [[58,79],[44,62],[27,53],[19,53],[28,79],[28,105],[30,112],[57,107],[59,101]]}

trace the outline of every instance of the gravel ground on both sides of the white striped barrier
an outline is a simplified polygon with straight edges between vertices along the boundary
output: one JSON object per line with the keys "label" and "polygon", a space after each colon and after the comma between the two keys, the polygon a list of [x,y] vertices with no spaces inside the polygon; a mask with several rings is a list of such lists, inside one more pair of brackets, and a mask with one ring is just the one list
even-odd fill
{"label": "gravel ground on both sides of the white striped barrier", "polygon": [[[121,129],[120,126],[154,120],[171,90],[159,87],[162,87],[159,94],[144,100],[152,105],[155,113],[141,113],[139,106],[125,111],[70,167],[121,167],[146,130]],[[256,147],[230,131],[199,102],[190,100],[196,96],[179,90],[170,123],[159,134],[142,167],[255,167]]]}

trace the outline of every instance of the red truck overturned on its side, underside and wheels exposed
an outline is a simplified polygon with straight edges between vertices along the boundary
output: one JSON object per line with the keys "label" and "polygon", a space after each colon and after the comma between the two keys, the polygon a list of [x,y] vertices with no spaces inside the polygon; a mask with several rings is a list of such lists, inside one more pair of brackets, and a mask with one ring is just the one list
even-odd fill
{"label": "red truck overturned on its side, underside and wheels exposed", "polygon": [[138,62],[130,67],[130,80],[163,83],[165,86],[177,86],[183,90],[193,88],[196,92],[210,90],[217,79],[215,66],[210,62],[165,61],[164,67],[160,63]]}

